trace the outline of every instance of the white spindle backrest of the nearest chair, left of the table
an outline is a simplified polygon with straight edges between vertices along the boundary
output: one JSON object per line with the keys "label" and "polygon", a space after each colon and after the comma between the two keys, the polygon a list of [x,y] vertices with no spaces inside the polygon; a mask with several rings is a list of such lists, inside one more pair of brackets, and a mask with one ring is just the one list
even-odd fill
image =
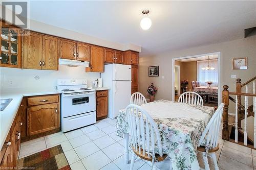
{"label": "white spindle backrest of the nearest chair, left of the table", "polygon": [[150,158],[151,154],[155,155],[155,145],[157,145],[159,155],[163,156],[159,129],[147,111],[138,105],[131,104],[126,107],[126,118],[134,149],[139,151],[139,154],[143,152],[144,156],[147,152],[147,157]]}

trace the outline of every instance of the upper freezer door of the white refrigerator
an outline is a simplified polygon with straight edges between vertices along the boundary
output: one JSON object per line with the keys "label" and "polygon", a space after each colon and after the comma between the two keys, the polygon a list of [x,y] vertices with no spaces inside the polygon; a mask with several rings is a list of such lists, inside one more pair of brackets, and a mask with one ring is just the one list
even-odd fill
{"label": "upper freezer door of the white refrigerator", "polygon": [[113,80],[131,80],[132,66],[123,64],[113,64]]}

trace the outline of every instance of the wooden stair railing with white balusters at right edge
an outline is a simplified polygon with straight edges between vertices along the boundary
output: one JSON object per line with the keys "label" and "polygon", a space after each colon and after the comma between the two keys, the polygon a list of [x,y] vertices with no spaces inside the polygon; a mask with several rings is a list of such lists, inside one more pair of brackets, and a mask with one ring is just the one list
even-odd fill
{"label": "wooden stair railing with white balusters at right edge", "polygon": [[[223,86],[222,91],[222,102],[225,104],[224,110],[223,110],[223,129],[222,129],[222,138],[224,140],[229,140],[232,142],[236,142],[238,144],[246,145],[247,147],[256,149],[256,116],[254,116],[254,110],[256,108],[256,94],[255,94],[255,79],[256,77],[250,79],[249,81],[245,82],[244,84],[241,84],[241,79],[237,79],[236,83],[236,92],[229,92],[228,86]],[[253,93],[248,93],[248,84],[253,82]],[[246,87],[246,93],[242,92],[242,87]],[[230,95],[235,95],[236,99],[233,99]],[[241,103],[241,96],[245,97],[244,105]],[[252,97],[253,104],[248,107],[248,97]],[[228,125],[228,107],[229,107],[229,100],[234,102],[236,104],[236,123],[235,123],[235,139],[230,139],[230,130],[233,128],[229,128]],[[253,139],[253,145],[251,144],[251,141],[247,136],[247,117],[253,116],[254,117],[254,139]],[[244,127],[241,127],[241,120],[244,119]],[[242,129],[244,131],[242,131]],[[238,134],[244,134],[242,137],[244,139],[244,142],[238,141]],[[241,136],[239,137],[241,139]],[[248,139],[248,143],[247,143]],[[255,142],[254,142],[255,141]]]}

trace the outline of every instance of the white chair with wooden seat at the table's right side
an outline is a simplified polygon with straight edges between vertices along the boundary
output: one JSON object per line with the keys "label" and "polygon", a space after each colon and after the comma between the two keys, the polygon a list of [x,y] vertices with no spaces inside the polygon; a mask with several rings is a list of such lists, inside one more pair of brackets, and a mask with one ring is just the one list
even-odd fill
{"label": "white chair with wooden seat at the table's right side", "polygon": [[218,138],[223,107],[224,103],[215,111],[199,140],[198,151],[202,152],[205,170],[210,170],[207,156],[211,157],[214,161],[215,169],[219,169],[215,152],[219,150]]}

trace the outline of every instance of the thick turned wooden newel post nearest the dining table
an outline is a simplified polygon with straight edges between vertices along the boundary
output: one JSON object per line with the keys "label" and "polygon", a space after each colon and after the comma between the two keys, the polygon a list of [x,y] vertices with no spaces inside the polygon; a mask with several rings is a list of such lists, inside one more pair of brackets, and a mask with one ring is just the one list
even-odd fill
{"label": "thick turned wooden newel post nearest the dining table", "polygon": [[228,105],[229,105],[229,92],[228,86],[224,85],[222,90],[222,102],[225,104],[223,109],[223,129],[222,129],[222,139],[229,140],[228,132]]}

